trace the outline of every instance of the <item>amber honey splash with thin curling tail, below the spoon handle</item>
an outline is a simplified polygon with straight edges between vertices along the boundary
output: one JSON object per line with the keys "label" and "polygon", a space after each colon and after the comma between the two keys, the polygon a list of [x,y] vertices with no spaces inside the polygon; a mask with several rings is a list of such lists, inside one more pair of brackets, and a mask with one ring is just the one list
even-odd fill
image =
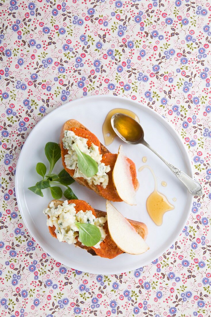
{"label": "amber honey splash with thin curling tail, below the spoon handle", "polygon": [[157,224],[157,226],[160,226],[163,223],[164,213],[169,210],[173,210],[174,206],[170,204],[168,199],[163,194],[158,192],[157,179],[150,166],[148,165],[141,166],[139,168],[139,172],[142,171],[145,167],[148,168],[152,172],[152,175],[155,181],[155,189],[146,200],[146,210],[149,216],[151,217],[151,219],[154,221],[154,223]]}

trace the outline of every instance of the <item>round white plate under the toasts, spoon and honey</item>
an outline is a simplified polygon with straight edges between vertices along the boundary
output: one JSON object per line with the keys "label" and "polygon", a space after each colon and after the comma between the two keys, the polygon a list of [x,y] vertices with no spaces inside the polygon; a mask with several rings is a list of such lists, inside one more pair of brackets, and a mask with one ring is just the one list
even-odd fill
{"label": "round white plate under the toasts, spoon and honey", "polygon": [[[182,139],[172,126],[159,114],[140,103],[122,97],[99,95],[77,99],[58,107],[34,127],[29,134],[18,159],[16,168],[16,197],[20,212],[29,232],[37,243],[54,259],[68,267],[96,274],[115,274],[140,268],[158,256],[162,255],[177,239],[187,222],[193,197],[175,177],[168,167],[158,157],[143,145],[127,145],[115,138],[108,146],[112,153],[117,153],[119,145],[127,156],[136,164],[137,176],[140,183],[137,191],[137,206],[129,206],[124,202],[114,203],[125,217],[146,223],[148,236],[146,239],[150,249],[141,255],[121,254],[109,260],[99,256],[91,256],[85,250],[74,245],[60,243],[48,232],[46,216],[42,213],[53,199],[50,190],[43,190],[44,197],[35,195],[28,187],[40,180],[35,166],[43,162],[48,168],[44,147],[47,142],[59,142],[62,125],[66,120],[76,119],[86,126],[104,144],[102,124],[107,113],[114,108],[130,109],[136,113],[145,131],[146,141],[173,165],[186,172],[193,178],[191,162],[183,145]],[[151,172],[144,169],[142,157],[147,157],[158,181],[158,191],[163,193],[175,209],[164,214],[163,224],[156,226],[146,210],[146,199],[154,190],[154,180]],[[55,165],[55,171],[63,169],[61,159]],[[161,182],[167,183],[162,187]],[[74,182],[73,192],[79,199],[87,201],[93,208],[106,211],[106,201],[94,191]],[[174,202],[173,198],[177,201]],[[65,198],[61,198],[64,199]]]}

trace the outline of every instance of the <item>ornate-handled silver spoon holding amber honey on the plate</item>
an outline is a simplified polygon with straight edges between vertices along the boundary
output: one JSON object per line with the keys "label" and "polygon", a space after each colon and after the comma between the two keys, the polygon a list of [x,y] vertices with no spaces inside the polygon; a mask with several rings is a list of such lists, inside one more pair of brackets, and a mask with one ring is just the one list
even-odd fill
{"label": "ornate-handled silver spoon holding amber honey on the plate", "polygon": [[186,173],[180,171],[176,166],[169,163],[145,141],[144,130],[136,120],[126,114],[115,113],[111,117],[111,126],[118,137],[124,142],[132,145],[143,144],[154,152],[187,187],[192,195],[201,196],[203,194],[202,185],[199,184],[199,182],[196,182]]}

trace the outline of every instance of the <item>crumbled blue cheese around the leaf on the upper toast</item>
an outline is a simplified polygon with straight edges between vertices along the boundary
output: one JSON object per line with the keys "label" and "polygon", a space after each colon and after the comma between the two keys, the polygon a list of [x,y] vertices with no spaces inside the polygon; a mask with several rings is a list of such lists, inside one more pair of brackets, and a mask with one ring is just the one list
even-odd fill
{"label": "crumbled blue cheese around the leaf on the upper toast", "polygon": [[[110,165],[105,165],[104,163],[101,163],[102,154],[100,154],[98,146],[92,143],[90,148],[88,148],[86,144],[87,140],[88,139],[81,138],[78,135],[75,135],[73,131],[65,130],[62,142],[64,148],[68,150],[68,154],[65,155],[66,167],[70,170],[75,170],[75,173],[73,175],[74,178],[83,177],[90,185],[101,185],[103,188],[106,188],[109,183],[109,176],[107,175],[107,173],[111,170]],[[78,146],[81,152],[90,155],[91,158],[96,161],[98,165],[98,172],[96,173],[96,175],[92,177],[86,177],[78,169],[78,157],[73,147],[74,143]]]}

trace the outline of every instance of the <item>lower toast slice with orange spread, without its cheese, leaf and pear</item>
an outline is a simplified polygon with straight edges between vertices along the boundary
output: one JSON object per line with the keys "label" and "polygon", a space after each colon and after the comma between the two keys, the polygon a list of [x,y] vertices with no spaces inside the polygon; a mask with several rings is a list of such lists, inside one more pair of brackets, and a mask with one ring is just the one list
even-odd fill
{"label": "lower toast slice with orange spread, without its cheese, leaf and pear", "polygon": [[[54,203],[54,206],[57,207],[58,205],[61,205],[63,203],[62,200],[52,200]],[[76,204],[75,209],[76,212],[81,210],[81,204],[85,207],[86,210],[92,210],[92,213],[95,215],[96,218],[98,217],[105,217],[106,212],[101,211],[101,210],[96,210],[93,209],[88,203],[84,202],[83,200],[69,200],[68,204],[74,203]],[[80,205],[78,205],[80,204]],[[50,205],[50,203],[49,203]],[[49,208],[48,205],[48,208]],[[77,206],[78,205],[78,206]],[[79,207],[79,208],[78,208]],[[83,208],[83,207],[82,207]],[[85,211],[84,209],[84,211]],[[49,216],[47,216],[49,218]],[[135,221],[135,220],[130,220],[127,219],[129,223],[135,228],[135,230],[138,232],[138,234],[146,240],[147,234],[148,234],[148,229],[145,223]],[[55,226],[53,227],[48,227],[50,234],[56,238],[56,233],[55,233]],[[92,256],[101,256],[104,258],[108,259],[113,259],[114,257],[118,256],[119,254],[124,253],[121,249],[118,248],[118,246],[115,244],[115,242],[111,239],[110,234],[109,234],[109,229],[108,229],[108,223],[104,223],[103,229],[106,232],[106,237],[105,239],[101,242],[100,244],[100,249],[96,249],[94,247],[87,247],[83,245],[81,242],[77,241],[75,245],[77,245],[81,249],[85,249],[87,252],[89,252]]]}

